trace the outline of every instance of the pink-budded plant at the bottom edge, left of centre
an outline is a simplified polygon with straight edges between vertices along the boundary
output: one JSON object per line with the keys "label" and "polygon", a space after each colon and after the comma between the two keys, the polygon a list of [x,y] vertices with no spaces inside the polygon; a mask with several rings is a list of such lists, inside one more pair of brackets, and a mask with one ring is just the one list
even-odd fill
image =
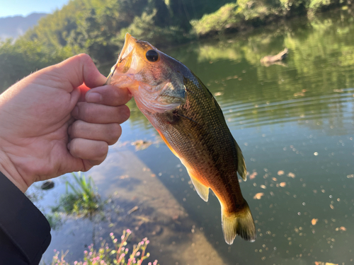
{"label": "pink-budded plant at the bottom edge, left of centre", "polygon": [[[105,241],[101,242],[101,247],[97,250],[94,249],[93,245],[90,245],[89,251],[84,251],[84,261],[74,261],[73,264],[141,265],[142,261],[150,256],[150,254],[146,252],[149,240],[147,240],[145,237],[141,242],[133,246],[132,252],[129,252],[129,249],[127,249],[125,246],[127,245],[127,239],[131,234],[131,230],[124,230],[122,236],[120,237],[120,243],[118,243],[118,239],[115,238],[115,235],[113,232],[111,232],[110,239],[113,242],[113,249],[110,249],[110,247],[108,247],[108,243]],[[55,256],[52,259],[52,265],[69,265],[69,263],[64,259],[68,252],[69,251],[65,253],[62,252],[61,257],[59,258],[60,252],[55,250]],[[153,264],[149,262],[148,265],[158,265],[157,260],[155,260]]]}

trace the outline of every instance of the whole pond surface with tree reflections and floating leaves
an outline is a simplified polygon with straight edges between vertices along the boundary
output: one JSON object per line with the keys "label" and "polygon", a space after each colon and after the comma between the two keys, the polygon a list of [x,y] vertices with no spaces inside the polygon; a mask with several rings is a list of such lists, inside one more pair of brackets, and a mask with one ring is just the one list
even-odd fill
{"label": "whole pond surface with tree reflections and floating leaves", "polygon": [[[289,55],[282,64],[260,63],[262,57],[278,54],[285,47]],[[177,216],[161,221],[157,232],[155,227],[150,229],[154,222],[135,229],[137,237],[149,237],[152,257],[159,259],[160,264],[188,264],[178,260],[178,255],[166,253],[164,247],[176,244],[173,235],[187,240],[198,231],[203,238],[198,242],[202,245],[192,243],[190,254],[207,244],[222,260],[210,259],[204,264],[314,264],[315,261],[352,264],[354,17],[346,10],[337,11],[312,21],[299,18],[252,34],[228,35],[164,52],[188,66],[222,107],[246,160],[249,176],[240,185],[258,237],[253,243],[239,237],[231,246],[224,242],[216,197],[210,196],[207,203],[199,198],[188,183],[190,179],[181,162],[159,140],[132,101],[131,118],[122,125],[120,141],[110,148],[108,160],[88,174],[103,197],[118,189],[138,196],[141,191],[135,191],[135,182],[131,180],[137,173],[129,173],[130,167],[137,170],[137,163],[125,164],[126,179],[121,177],[123,172],[117,166],[117,161],[128,153],[144,164],[144,171],[151,173],[147,182],[154,179],[162,184],[144,191],[147,198],[149,194],[159,196],[166,189],[175,201],[173,204],[181,206],[178,211],[188,216],[185,223]],[[109,69],[102,72],[108,74]],[[130,143],[140,139],[153,144],[135,151]],[[63,187],[59,184],[57,190],[48,192],[44,198],[64,192]],[[122,196],[118,196],[116,204],[129,210],[135,206],[134,199],[125,197],[122,201]],[[163,199],[157,208],[169,208]],[[144,199],[140,203],[144,204]],[[148,212],[144,214],[149,217]],[[120,213],[110,216],[108,223],[112,225],[98,225],[96,230],[102,230],[101,237],[108,239],[109,227],[115,228],[121,219]],[[91,228],[87,220],[70,222],[76,223],[76,227]],[[126,227],[116,230],[130,228],[129,222],[133,221],[127,220]],[[164,223],[169,229],[164,228]],[[67,247],[71,252],[77,249],[82,253],[84,245],[91,244],[92,233],[79,232],[80,236],[65,245],[65,229],[73,230],[72,227],[64,224],[53,232],[47,259],[53,249]],[[164,233],[167,239],[162,244],[159,234]],[[175,251],[178,253],[178,247]],[[79,259],[75,254],[68,257]],[[190,261],[190,264],[196,263]]]}

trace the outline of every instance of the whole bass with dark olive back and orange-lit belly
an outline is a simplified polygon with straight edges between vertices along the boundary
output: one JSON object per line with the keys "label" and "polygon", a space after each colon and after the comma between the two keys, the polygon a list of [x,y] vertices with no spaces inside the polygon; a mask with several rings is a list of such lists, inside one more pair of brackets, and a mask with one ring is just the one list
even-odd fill
{"label": "whole bass with dark olive back and orange-lit belly", "polygon": [[128,88],[139,110],[186,167],[196,192],[219,200],[224,240],[256,240],[256,228],[241,194],[237,172],[246,165],[222,110],[206,86],[180,61],[129,33],[106,84]]}

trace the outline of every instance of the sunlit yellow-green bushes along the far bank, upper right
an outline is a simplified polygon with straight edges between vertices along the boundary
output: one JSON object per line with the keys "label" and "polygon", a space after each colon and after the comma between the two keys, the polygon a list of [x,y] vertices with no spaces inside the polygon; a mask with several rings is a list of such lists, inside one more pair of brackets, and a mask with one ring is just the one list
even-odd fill
{"label": "sunlit yellow-green bushes along the far bank, upper right", "polygon": [[313,16],[315,13],[348,3],[343,0],[238,0],[190,23],[195,33],[203,36],[229,29],[254,28],[280,18]]}

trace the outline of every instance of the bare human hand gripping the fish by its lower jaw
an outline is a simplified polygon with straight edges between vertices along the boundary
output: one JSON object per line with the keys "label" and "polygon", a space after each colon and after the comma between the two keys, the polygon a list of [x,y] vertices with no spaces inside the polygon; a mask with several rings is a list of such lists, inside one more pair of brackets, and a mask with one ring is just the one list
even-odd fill
{"label": "bare human hand gripping the fish by its lower jaw", "polygon": [[103,83],[89,55],[79,54],[0,95],[0,171],[22,192],[103,162],[130,116],[131,98],[127,89]]}

